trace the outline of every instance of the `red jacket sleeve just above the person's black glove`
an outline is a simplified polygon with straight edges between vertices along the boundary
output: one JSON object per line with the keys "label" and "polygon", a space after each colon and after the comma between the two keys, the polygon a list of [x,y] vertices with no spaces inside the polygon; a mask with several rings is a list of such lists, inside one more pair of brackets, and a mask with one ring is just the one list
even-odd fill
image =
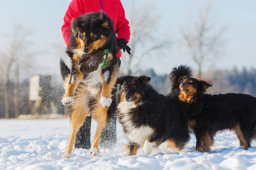
{"label": "red jacket sleeve just above the person's black glove", "polygon": [[125,18],[125,10],[123,9],[121,1],[119,1],[119,13],[117,18],[117,39],[130,40],[130,27],[129,22]]}

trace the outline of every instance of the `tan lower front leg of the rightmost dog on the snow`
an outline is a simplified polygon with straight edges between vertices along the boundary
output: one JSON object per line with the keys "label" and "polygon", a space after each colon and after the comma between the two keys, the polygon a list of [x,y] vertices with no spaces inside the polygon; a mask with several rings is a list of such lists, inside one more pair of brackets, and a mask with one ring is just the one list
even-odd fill
{"label": "tan lower front leg of the rightmost dog on the snow", "polygon": [[213,146],[214,141],[210,137],[209,133],[206,132],[200,139],[201,145],[196,147],[196,151],[199,152],[208,152],[210,151],[210,146]]}

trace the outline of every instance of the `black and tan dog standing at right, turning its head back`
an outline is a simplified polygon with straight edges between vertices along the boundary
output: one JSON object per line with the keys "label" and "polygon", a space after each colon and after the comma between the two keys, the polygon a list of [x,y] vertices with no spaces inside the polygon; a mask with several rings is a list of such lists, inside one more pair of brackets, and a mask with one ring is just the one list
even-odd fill
{"label": "black and tan dog standing at right, turning its head back", "polygon": [[[181,67],[191,75],[189,67]],[[172,82],[173,87],[179,86],[179,100],[186,103],[183,105],[184,117],[196,135],[196,151],[210,151],[214,135],[226,129],[234,131],[240,146],[247,150],[256,137],[256,98],[245,94],[205,94],[210,84],[186,75],[180,76],[179,68],[174,72],[171,75],[177,81]]]}

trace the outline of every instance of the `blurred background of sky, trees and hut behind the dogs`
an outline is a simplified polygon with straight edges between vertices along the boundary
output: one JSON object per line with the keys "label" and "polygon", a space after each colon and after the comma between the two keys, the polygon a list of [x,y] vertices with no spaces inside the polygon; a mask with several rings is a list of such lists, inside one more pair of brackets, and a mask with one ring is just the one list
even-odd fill
{"label": "blurred background of sky, trees and hut behind the dogs", "polygon": [[[0,0],[0,118],[63,115],[61,35],[71,0]],[[121,75],[151,76],[161,94],[180,64],[212,84],[210,94],[256,96],[256,1],[121,0],[130,22],[131,55]]]}

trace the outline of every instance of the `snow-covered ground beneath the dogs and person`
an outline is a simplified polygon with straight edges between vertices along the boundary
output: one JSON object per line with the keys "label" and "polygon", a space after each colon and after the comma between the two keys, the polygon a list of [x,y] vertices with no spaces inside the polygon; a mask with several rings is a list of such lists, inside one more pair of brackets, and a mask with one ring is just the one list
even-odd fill
{"label": "snow-covered ground beneath the dogs and person", "polygon": [[[92,139],[96,123],[92,124]],[[0,120],[0,169],[256,169],[256,142],[249,150],[239,147],[230,132],[217,134],[210,152],[196,152],[195,136],[183,151],[154,148],[151,155],[128,156],[127,139],[117,125],[117,147],[92,156],[88,150],[73,149],[71,159],[62,159],[70,132],[69,119]]]}

